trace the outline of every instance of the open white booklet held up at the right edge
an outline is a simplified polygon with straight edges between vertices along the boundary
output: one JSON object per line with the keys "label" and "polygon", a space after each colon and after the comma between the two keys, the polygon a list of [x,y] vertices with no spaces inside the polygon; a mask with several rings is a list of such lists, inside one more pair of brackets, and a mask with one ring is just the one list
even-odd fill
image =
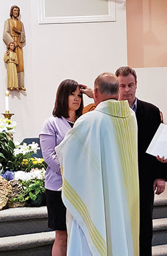
{"label": "open white booklet held up at the right edge", "polygon": [[167,158],[167,125],[161,123],[156,131],[146,153],[150,153],[150,155],[160,155],[162,157],[164,155]]}

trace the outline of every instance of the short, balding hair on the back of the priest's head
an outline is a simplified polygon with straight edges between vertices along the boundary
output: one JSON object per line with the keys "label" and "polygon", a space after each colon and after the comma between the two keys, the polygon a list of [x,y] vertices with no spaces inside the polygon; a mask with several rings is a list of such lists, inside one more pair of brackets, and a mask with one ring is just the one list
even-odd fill
{"label": "short, balding hair on the back of the priest's head", "polygon": [[100,90],[100,93],[102,94],[118,94],[118,88],[119,88],[119,83],[118,83],[118,78],[110,73],[110,72],[105,72],[100,74],[95,82],[94,82],[95,87],[98,87]]}

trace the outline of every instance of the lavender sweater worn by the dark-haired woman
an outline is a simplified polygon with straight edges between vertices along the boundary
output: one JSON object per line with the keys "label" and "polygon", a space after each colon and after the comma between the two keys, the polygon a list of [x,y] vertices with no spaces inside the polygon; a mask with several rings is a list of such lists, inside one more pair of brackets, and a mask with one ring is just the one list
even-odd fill
{"label": "lavender sweater worn by the dark-haired woman", "polygon": [[55,154],[55,146],[63,140],[65,133],[71,126],[64,117],[49,117],[43,123],[43,129],[39,134],[43,159],[47,163],[45,172],[45,188],[57,190],[62,186],[59,160]]}

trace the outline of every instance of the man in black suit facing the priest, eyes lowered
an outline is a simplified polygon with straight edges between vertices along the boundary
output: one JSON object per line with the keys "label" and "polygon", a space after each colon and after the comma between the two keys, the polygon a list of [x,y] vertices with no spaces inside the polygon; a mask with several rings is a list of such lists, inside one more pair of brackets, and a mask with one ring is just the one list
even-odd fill
{"label": "man in black suit facing the priest, eyes lowered", "polygon": [[138,172],[140,182],[140,256],[152,255],[152,209],[154,191],[164,192],[166,165],[146,153],[161,119],[160,110],[136,98],[137,76],[128,66],[116,70],[119,81],[119,99],[128,100],[136,112],[138,122]]}

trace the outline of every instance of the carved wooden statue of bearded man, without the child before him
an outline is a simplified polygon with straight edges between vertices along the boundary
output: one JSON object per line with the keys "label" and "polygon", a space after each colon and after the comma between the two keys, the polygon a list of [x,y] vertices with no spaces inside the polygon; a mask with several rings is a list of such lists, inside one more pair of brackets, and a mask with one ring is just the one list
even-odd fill
{"label": "carved wooden statue of bearded man, without the child before him", "polygon": [[24,66],[23,66],[23,46],[25,46],[25,31],[23,22],[19,17],[20,9],[17,5],[13,5],[10,10],[10,19],[5,21],[3,30],[3,41],[6,45],[15,43],[15,52],[17,54],[17,75],[19,81],[19,90],[26,90],[24,87]]}

